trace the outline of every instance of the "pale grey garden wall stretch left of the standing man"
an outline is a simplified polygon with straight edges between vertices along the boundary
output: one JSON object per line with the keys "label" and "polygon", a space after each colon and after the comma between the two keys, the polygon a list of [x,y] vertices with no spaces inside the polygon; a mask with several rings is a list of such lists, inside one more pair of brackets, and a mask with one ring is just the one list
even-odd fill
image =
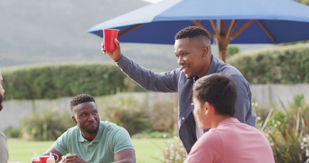
{"label": "pale grey garden wall stretch left of the standing man", "polygon": [[[119,93],[112,96],[95,97],[98,109],[105,107],[109,103],[117,102],[119,98],[133,97],[139,102],[145,102],[150,112],[152,106],[161,101],[174,102],[177,99],[176,93],[157,93],[157,92],[135,92],[135,93]],[[65,97],[54,100],[9,100],[3,102],[3,110],[0,112],[0,130],[4,130],[9,126],[20,127],[19,121],[31,117],[33,112],[42,114],[51,109],[70,116],[70,101],[73,97]],[[177,102],[174,102],[177,103]],[[177,105],[176,105],[177,107]]]}

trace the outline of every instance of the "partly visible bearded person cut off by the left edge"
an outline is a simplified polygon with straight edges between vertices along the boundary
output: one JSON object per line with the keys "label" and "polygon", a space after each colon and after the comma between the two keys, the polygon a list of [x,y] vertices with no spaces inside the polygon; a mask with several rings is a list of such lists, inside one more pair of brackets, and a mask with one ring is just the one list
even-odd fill
{"label": "partly visible bearded person cut off by the left edge", "polygon": [[[4,89],[2,87],[2,73],[0,70],[0,111],[3,109],[2,102],[4,98]],[[0,130],[0,163],[7,163],[9,158],[8,148],[7,148],[7,141],[4,132]]]}

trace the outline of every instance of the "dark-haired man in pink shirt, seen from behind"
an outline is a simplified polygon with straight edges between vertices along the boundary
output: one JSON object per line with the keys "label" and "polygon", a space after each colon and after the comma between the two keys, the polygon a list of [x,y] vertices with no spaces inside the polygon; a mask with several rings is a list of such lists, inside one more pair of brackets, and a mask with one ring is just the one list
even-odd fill
{"label": "dark-haired man in pink shirt, seen from behind", "polygon": [[211,128],[193,145],[185,163],[274,163],[273,151],[256,128],[233,118],[236,85],[211,74],[193,86],[194,115],[201,129]]}

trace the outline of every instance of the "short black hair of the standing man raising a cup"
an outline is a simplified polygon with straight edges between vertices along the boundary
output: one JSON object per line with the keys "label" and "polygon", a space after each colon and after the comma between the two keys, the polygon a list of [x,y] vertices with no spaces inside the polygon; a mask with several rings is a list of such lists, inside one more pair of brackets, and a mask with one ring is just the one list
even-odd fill
{"label": "short black hair of the standing man raising a cup", "polygon": [[185,39],[185,38],[205,38],[206,40],[210,40],[209,33],[202,27],[197,27],[197,26],[190,26],[190,27],[185,27],[181,31],[179,31],[176,36],[175,40],[179,39]]}

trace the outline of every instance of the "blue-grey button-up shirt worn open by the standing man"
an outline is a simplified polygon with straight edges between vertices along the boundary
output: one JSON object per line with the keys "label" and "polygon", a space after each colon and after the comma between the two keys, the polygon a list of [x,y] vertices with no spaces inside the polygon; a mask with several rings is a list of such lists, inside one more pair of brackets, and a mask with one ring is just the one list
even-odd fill
{"label": "blue-grey button-up shirt worn open by the standing man", "polygon": [[[122,55],[116,65],[128,77],[146,90],[155,92],[178,92],[178,126],[179,138],[187,153],[196,142],[195,120],[192,115],[192,89],[193,79],[187,79],[182,69],[174,69],[170,72],[154,73],[149,69],[139,66]],[[223,73],[230,77],[237,85],[237,99],[235,115],[240,122],[255,127],[256,117],[252,110],[251,90],[248,81],[242,76],[238,69],[228,65],[212,55],[210,68],[206,75]],[[224,101],[222,101],[224,102]],[[204,130],[206,132],[208,130]]]}

